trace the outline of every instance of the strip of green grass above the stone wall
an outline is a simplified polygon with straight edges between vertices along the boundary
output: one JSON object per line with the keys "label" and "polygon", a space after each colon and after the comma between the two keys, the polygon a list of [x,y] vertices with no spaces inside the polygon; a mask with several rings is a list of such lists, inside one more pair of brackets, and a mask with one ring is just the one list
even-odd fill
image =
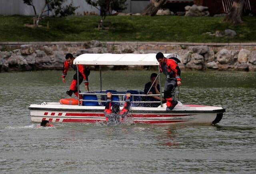
{"label": "strip of green grass above the stone wall", "polygon": [[[256,42],[256,18],[232,26],[223,18],[185,16],[107,16],[106,30],[99,30],[99,16],[46,18],[41,28],[29,28],[31,16],[0,16],[0,42],[29,41],[156,41],[156,42]],[[50,28],[46,28],[49,22]],[[204,33],[235,30],[234,38],[216,38]]]}

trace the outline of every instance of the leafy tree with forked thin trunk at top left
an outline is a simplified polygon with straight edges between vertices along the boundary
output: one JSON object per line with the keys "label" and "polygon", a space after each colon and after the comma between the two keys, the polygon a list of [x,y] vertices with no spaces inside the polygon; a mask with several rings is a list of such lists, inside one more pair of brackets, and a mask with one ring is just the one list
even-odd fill
{"label": "leafy tree with forked thin trunk at top left", "polygon": [[[48,12],[48,11],[52,11],[54,12],[54,14],[60,15],[60,16],[68,16],[68,15],[72,15],[75,13],[75,10],[78,7],[74,7],[72,5],[72,2],[69,5],[66,5],[65,7],[62,6],[62,4],[65,2],[66,0],[44,0],[44,6],[41,8],[39,14],[37,14],[36,12],[36,8],[34,6],[34,2],[33,0],[23,0],[23,2],[25,4],[27,4],[28,6],[32,6],[34,9],[34,16],[35,16],[35,25],[36,27],[38,27],[39,21],[41,19],[41,16],[44,12]],[[46,9],[46,6],[48,6],[48,8]]]}

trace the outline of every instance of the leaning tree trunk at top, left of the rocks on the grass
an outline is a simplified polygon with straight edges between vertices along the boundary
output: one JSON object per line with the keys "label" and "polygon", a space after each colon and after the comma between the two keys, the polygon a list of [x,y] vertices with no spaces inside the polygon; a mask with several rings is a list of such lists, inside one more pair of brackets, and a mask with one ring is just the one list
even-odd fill
{"label": "leaning tree trunk at top, left of the rocks on the grass", "polygon": [[166,0],[150,0],[150,4],[143,10],[142,15],[155,16],[165,2]]}

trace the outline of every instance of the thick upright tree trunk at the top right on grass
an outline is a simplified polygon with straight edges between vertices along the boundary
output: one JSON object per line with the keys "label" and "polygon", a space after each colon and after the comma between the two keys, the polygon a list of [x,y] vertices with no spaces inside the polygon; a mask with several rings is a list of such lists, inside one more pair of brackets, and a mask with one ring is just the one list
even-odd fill
{"label": "thick upright tree trunk at the top right on grass", "polygon": [[244,7],[244,0],[234,0],[233,5],[224,18],[224,22],[232,23],[232,24],[241,24],[243,23],[241,16]]}

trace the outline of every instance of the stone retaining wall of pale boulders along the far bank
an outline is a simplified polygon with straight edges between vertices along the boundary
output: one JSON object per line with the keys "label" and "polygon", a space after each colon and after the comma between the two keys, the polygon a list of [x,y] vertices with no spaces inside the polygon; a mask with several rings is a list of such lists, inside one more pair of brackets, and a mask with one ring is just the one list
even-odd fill
{"label": "stone retaining wall of pale boulders along the far bank", "polygon": [[[1,42],[0,72],[60,70],[65,55],[84,53],[175,53],[182,57],[180,68],[192,70],[256,71],[256,43],[175,42]],[[94,68],[94,67],[92,67]],[[108,69],[117,67],[109,66]],[[123,69],[124,67],[122,67]],[[134,67],[129,68],[149,68]]]}

